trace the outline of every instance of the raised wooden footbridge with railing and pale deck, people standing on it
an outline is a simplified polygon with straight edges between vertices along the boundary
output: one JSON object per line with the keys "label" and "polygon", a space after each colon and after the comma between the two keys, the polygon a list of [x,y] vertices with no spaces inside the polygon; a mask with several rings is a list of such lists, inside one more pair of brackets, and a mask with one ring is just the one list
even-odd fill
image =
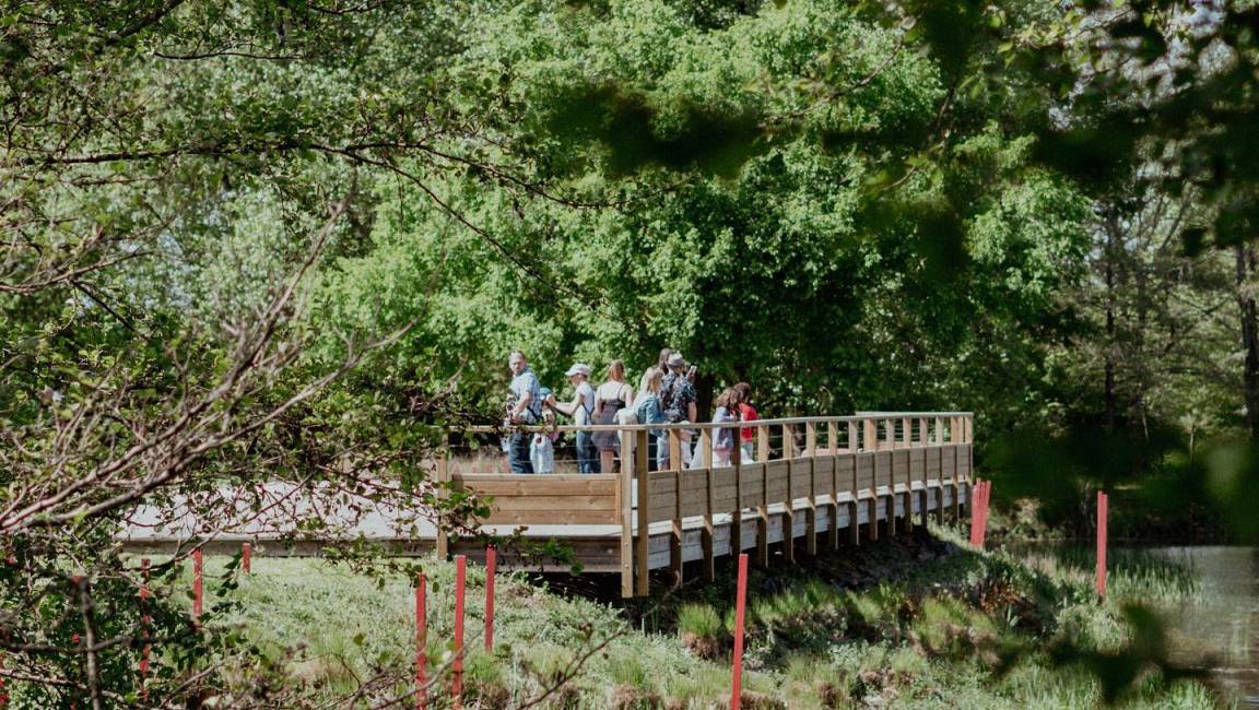
{"label": "raised wooden footbridge with railing and pale deck, people standing on it", "polygon": [[[468,427],[447,434],[436,476],[448,483],[438,488],[439,495],[470,491],[491,496],[490,515],[480,521],[485,532],[510,535],[524,527],[526,541],[558,541],[572,550],[572,558],[565,559],[505,549],[502,566],[567,572],[575,561],[588,573],[619,574],[622,595],[633,597],[648,593],[652,570],[667,569],[672,583],[680,584],[690,563],[691,574],[711,579],[718,558],[743,550],[753,550],[763,565],[791,563],[797,548],[815,554],[818,545],[878,540],[912,529],[915,516],[918,524],[925,524],[932,512],[940,519],[946,511],[959,517],[972,482],[972,420],[966,412],[866,412],[725,427],[546,429],[616,432],[621,451],[632,453],[622,457],[619,472],[597,475],[490,472],[501,470],[504,459],[487,459],[471,444],[497,441],[502,431]],[[652,471],[648,428],[667,432],[670,462],[682,459],[684,429],[696,432],[694,467]],[[720,428],[753,429],[755,459],[740,461],[737,447],[729,466],[714,466],[711,443]],[[268,496],[291,499],[293,490],[277,488]],[[293,505],[305,505],[297,499]],[[397,514],[376,510],[351,534],[387,544],[398,554],[424,554],[436,548],[441,556],[483,558],[482,541],[448,538],[424,520],[418,527],[403,526],[395,522],[403,517]],[[206,521],[188,516],[178,530],[167,526],[157,532],[144,522],[151,515],[154,511],[141,510],[132,517],[132,526],[121,536],[128,550],[160,553],[194,540],[204,543]],[[248,541],[267,555],[320,555],[327,545],[340,544],[293,540],[286,530],[257,521],[219,527],[220,532],[204,543],[209,551],[230,554]]]}

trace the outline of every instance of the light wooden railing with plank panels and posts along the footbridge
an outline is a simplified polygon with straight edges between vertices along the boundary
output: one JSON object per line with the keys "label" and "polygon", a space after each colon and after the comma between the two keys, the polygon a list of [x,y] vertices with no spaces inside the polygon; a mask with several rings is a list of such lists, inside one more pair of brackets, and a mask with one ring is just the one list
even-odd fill
{"label": "light wooden railing with plank panels and posts along the footbridge", "polygon": [[[667,530],[656,535],[667,538],[669,566],[680,582],[684,534],[695,525],[700,529],[701,574],[711,579],[714,560],[721,554],[754,546],[757,560],[768,564],[776,516],[786,541],[783,556],[793,560],[798,515],[805,516],[805,545],[810,554],[816,553],[818,544],[820,510],[828,521],[825,539],[828,546],[840,543],[841,509],[847,515],[847,535],[854,543],[859,506],[869,506],[870,539],[878,539],[880,512],[895,531],[898,502],[904,505],[903,525],[912,526],[913,496],[922,496],[919,511],[925,520],[928,490],[937,491],[935,510],[943,514],[943,491],[948,487],[951,507],[959,515],[959,491],[972,477],[972,425],[973,417],[967,412],[874,412],[730,424],[556,427],[545,431],[617,432],[619,472],[452,473],[446,456],[437,475],[451,481],[456,490],[492,496],[486,524],[607,526],[598,532],[619,539],[622,594],[630,597],[648,590],[652,524],[669,522]],[[735,447],[729,466],[714,466],[713,439],[723,428],[735,429]],[[670,470],[650,471],[648,429],[666,432]],[[742,461],[740,429],[755,433],[753,462]],[[677,467],[684,431],[699,437],[697,461],[686,470]],[[461,432],[475,436],[501,429],[470,427]],[[755,520],[754,545],[744,540],[745,517]],[[444,534],[439,532],[438,554],[444,555],[447,549]]]}

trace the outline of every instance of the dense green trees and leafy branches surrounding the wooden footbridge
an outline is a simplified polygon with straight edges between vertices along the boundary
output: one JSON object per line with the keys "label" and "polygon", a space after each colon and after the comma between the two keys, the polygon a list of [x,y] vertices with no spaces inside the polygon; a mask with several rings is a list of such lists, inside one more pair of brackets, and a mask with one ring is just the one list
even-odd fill
{"label": "dense green trees and leafy branches surrounding the wooden footbridge", "polygon": [[[971,409],[997,476],[1029,451],[1055,467],[1010,490],[1181,477],[1244,520],[1259,457],[1197,452],[1259,432],[1254,18],[1039,0],[0,9],[6,662],[47,681],[33,706],[135,701],[118,668],[140,570],[112,540],[140,505],[249,515],[264,496],[224,491],[283,482],[466,531],[478,504],[441,495],[431,448],[447,423],[496,418],[514,349],[553,386],[578,360],[636,379],[667,346],[699,365],[705,404],[747,380],[773,415]],[[98,666],[71,641],[89,598]],[[174,651],[154,692],[300,695],[184,684],[206,655],[278,671],[159,608]]]}

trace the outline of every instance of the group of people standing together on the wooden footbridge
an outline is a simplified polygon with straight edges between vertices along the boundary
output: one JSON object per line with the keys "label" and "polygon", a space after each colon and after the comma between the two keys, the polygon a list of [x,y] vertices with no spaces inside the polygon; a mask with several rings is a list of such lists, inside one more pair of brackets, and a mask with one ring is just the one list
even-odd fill
{"label": "group of people standing together on the wooden footbridge", "polygon": [[[638,380],[638,392],[626,381],[626,366],[612,360],[607,376],[597,388],[590,384],[592,369],[575,363],[564,375],[573,385],[573,399],[558,402],[554,393],[541,386],[529,360],[521,351],[507,359],[511,369],[511,395],[507,400],[505,425],[554,424],[555,415],[563,414],[574,425],[593,424],[663,424],[697,422],[697,397],[695,392],[695,366],[689,365],[681,352],[665,349],[656,365],[647,368]],[[711,422],[715,424],[750,422],[759,415],[748,402],[752,393],[748,383],[726,388],[718,395]],[[735,446],[743,447],[744,461],[753,458],[754,431],[720,428],[713,437],[714,466],[728,466]],[[681,467],[692,462],[691,429],[681,429]],[[735,437],[739,441],[735,441]],[[546,432],[525,433],[519,429],[505,439],[512,473],[550,473],[555,467],[554,442],[556,434]],[[666,429],[648,431],[648,466],[652,471],[670,468],[670,444]],[[577,466],[582,473],[611,473],[621,453],[617,432],[579,431],[577,433]]]}

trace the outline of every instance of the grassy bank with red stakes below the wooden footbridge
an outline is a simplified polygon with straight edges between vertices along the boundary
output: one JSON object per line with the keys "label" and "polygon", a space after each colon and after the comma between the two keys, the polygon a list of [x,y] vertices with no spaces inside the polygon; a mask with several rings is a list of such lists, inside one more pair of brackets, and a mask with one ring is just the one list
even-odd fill
{"label": "grassy bank with red stakes below the wooden footbridge", "polygon": [[[428,653],[439,666],[449,658],[453,572],[422,561],[432,580]],[[210,559],[208,572],[225,563]],[[239,604],[217,623],[287,666],[288,682],[324,697],[361,691],[370,706],[409,689],[413,597],[404,579],[259,558],[224,597]],[[1160,670],[1149,642],[1157,622],[1126,607],[1192,595],[1186,573],[1156,560],[1123,565],[1104,604],[1090,585],[1071,560],[1026,564],[925,538],[754,574],[745,706],[1085,707],[1108,692],[1136,707],[1212,706],[1197,681]],[[470,570],[470,590],[467,641],[478,648],[467,661],[478,699],[471,706],[541,699],[543,707],[682,709],[729,699],[734,594],[725,575],[628,607],[500,577],[492,655],[480,651],[480,569]]]}

